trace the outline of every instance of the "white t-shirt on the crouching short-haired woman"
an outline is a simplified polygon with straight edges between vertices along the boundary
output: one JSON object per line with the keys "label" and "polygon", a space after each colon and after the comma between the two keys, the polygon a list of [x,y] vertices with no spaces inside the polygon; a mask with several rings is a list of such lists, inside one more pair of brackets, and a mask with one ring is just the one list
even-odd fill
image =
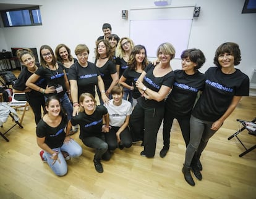
{"label": "white t-shirt on the crouching short-haired woman", "polygon": [[110,126],[122,126],[126,121],[126,116],[132,114],[132,104],[124,99],[119,106],[113,104],[113,99],[109,101],[109,104],[104,105],[108,109]]}

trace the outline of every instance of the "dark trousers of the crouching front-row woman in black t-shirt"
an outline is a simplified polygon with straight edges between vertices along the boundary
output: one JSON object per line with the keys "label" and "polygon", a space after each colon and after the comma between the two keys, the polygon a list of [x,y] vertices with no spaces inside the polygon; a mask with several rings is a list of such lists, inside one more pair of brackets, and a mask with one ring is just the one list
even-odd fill
{"label": "dark trousers of the crouching front-row woman in black t-shirt", "polygon": [[85,137],[82,139],[83,144],[87,147],[95,148],[95,160],[109,160],[111,154],[108,152],[108,144],[104,140],[104,135],[102,137]]}

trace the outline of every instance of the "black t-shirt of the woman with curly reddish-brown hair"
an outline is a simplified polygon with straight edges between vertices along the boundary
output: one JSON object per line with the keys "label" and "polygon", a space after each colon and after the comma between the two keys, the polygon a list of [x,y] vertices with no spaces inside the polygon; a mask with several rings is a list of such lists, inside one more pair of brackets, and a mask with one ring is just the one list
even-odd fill
{"label": "black t-shirt of the woman with curly reddish-brown hair", "polygon": [[[95,60],[96,63],[96,60]],[[105,65],[102,67],[97,67],[100,71],[100,76],[103,79],[105,90],[108,90],[110,84],[112,83],[113,79],[111,77],[112,74],[116,73],[116,65],[111,60],[108,60]]]}

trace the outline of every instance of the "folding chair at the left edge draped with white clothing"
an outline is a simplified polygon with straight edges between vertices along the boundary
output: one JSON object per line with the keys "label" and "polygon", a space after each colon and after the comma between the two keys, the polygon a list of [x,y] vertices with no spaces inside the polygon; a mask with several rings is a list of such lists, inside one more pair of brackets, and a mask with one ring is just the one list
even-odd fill
{"label": "folding chair at the left edge draped with white clothing", "polygon": [[22,126],[22,124],[20,124],[19,116],[15,112],[14,108],[11,108],[7,103],[0,103],[0,110],[1,110],[1,114],[0,114],[0,126],[1,127],[2,127],[2,124],[4,122],[6,122],[6,120],[9,116],[11,116],[12,121],[15,122],[15,124],[13,124],[11,126],[11,128],[7,129],[7,131],[5,131],[4,133],[0,132],[0,136],[2,136],[2,138],[4,138],[6,140],[6,142],[9,142],[9,139],[7,139],[5,134],[7,132],[11,131],[11,129],[14,128],[14,126],[16,126],[16,125],[19,125],[20,128],[23,128],[23,126]]}

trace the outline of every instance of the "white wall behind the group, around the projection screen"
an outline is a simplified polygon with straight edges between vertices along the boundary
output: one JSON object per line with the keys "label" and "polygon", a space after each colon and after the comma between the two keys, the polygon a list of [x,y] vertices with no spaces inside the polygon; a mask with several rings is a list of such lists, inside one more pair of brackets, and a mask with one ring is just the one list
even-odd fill
{"label": "white wall behind the group, around the projection screen", "polygon": [[[113,33],[129,36],[129,18],[121,18],[121,10],[155,7],[154,0],[0,0],[0,3],[40,4],[42,26],[0,28],[0,45],[11,51],[11,47],[36,47],[48,44],[53,49],[65,43],[72,50],[79,43],[90,49],[93,58],[95,40],[103,35],[101,26],[108,22]],[[240,68],[249,77],[256,68],[254,61],[256,46],[256,14],[241,14],[244,0],[172,0],[171,6],[201,6],[200,16],[194,18],[189,39],[189,48],[201,49],[207,62],[205,71],[213,65],[216,48],[224,42],[233,41],[241,47]],[[128,14],[129,15],[129,14]],[[147,34],[145,30],[145,33]],[[0,47],[0,50],[1,50]],[[156,46],[157,48],[158,46]],[[173,60],[174,69],[180,68],[180,60]]]}

